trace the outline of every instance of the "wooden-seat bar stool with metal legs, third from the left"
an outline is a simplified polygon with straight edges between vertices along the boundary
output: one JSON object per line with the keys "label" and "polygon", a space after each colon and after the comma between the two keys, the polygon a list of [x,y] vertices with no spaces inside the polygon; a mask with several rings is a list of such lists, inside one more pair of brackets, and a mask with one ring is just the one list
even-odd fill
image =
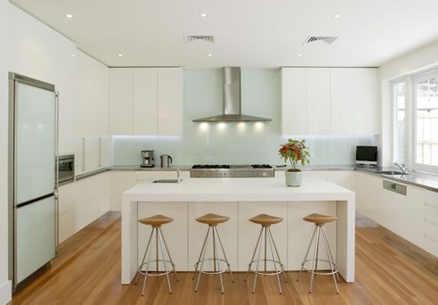
{"label": "wooden-seat bar stool with metal legs, third from the left", "polygon": [[[249,263],[248,269],[247,269],[247,276],[249,275],[249,272],[255,273],[253,293],[255,293],[255,284],[257,283],[257,275],[260,273],[263,276],[277,276],[277,282],[279,283],[280,294],[281,294],[283,292],[281,291],[279,274],[280,273],[283,274],[284,280],[286,283],[288,283],[288,279],[286,277],[286,273],[284,272],[284,266],[280,260],[279,251],[277,250],[277,246],[275,245],[275,242],[274,242],[273,237],[272,237],[271,225],[278,224],[279,222],[283,221],[283,218],[275,217],[275,216],[271,216],[271,215],[267,215],[267,214],[260,214],[260,215],[253,217],[253,218],[249,218],[249,221],[252,221],[255,224],[262,225],[262,229],[260,230],[260,235],[258,235],[257,243],[255,244],[253,258],[251,259],[251,262]],[[264,239],[264,259],[260,260],[260,253],[262,252],[263,239]],[[270,248],[271,248],[272,260],[268,260],[268,258],[267,258],[267,244],[268,243],[269,243]],[[273,244],[273,248],[272,248],[272,244]],[[259,248],[258,249],[258,256],[257,256],[257,260],[254,260],[255,252],[257,251],[257,246]],[[274,249],[275,249],[276,255],[274,254]],[[261,272],[258,271],[260,261],[264,261],[264,271],[261,271]],[[266,270],[266,266],[267,266],[268,261],[272,261],[272,265],[274,267],[275,272],[271,272],[271,271]],[[253,263],[255,263],[255,262],[257,263],[257,265],[256,265],[255,271],[254,271],[251,269],[251,267],[252,267]],[[279,269],[277,269],[277,264],[280,265]],[[247,277],[245,278],[245,282],[247,282]]]}

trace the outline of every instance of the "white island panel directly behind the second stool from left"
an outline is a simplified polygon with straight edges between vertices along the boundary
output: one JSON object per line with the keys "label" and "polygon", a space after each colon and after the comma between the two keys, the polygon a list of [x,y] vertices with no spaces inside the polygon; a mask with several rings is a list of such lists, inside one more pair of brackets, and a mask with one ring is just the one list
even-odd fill
{"label": "white island panel directly behind the second stool from left", "polygon": [[[199,253],[202,244],[205,241],[208,226],[196,221],[208,213],[214,213],[222,216],[227,216],[230,220],[223,222],[217,226],[217,231],[221,237],[223,248],[231,265],[231,270],[238,268],[238,244],[239,238],[236,234],[238,232],[238,202],[190,202],[189,203],[189,266],[187,270],[193,271],[194,265],[199,259]],[[210,230],[211,231],[211,230]],[[212,232],[210,232],[209,242],[206,245],[206,259],[213,259],[213,239]],[[217,251],[219,257],[223,258],[223,252],[218,245]],[[226,268],[225,263],[221,263],[221,268]],[[204,263],[203,269],[206,271],[214,270],[213,260],[208,260]]]}

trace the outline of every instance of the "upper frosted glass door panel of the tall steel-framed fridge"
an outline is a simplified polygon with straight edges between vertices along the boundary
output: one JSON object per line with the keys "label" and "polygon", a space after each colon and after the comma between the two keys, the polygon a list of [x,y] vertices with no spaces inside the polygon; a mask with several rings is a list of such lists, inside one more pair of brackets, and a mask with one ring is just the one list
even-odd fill
{"label": "upper frosted glass door panel of the tall steel-framed fridge", "polygon": [[55,188],[56,96],[53,91],[17,83],[16,204]]}

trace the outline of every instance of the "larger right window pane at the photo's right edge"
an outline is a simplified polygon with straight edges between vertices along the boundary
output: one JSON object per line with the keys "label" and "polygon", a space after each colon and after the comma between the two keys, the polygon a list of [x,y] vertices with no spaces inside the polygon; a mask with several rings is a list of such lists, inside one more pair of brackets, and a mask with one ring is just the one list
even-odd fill
{"label": "larger right window pane at the photo's right edge", "polygon": [[438,73],[415,79],[416,169],[438,172]]}

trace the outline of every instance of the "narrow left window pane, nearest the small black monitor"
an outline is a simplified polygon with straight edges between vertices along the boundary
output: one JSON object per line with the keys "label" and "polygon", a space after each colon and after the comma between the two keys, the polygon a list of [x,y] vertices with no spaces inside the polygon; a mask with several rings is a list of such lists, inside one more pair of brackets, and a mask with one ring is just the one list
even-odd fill
{"label": "narrow left window pane, nearest the small black monitor", "polygon": [[405,160],[406,103],[405,83],[393,84],[393,161]]}

